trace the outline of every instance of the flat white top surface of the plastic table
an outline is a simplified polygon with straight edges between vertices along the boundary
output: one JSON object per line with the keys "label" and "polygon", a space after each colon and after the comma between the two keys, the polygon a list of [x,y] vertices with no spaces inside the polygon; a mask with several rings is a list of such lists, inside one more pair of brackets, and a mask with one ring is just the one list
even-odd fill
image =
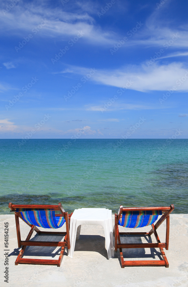
{"label": "flat white top surface of the plastic table", "polygon": [[112,219],[112,210],[106,208],[79,208],[75,209],[70,219],[104,220]]}

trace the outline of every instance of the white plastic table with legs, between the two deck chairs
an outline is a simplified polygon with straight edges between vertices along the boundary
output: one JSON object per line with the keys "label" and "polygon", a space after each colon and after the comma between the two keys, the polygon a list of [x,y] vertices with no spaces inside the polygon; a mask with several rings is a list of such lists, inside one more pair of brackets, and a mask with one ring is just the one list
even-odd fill
{"label": "white plastic table with legs, between the two deck chairs", "polygon": [[73,258],[76,239],[80,237],[82,224],[102,225],[104,228],[108,259],[114,257],[114,236],[112,231],[112,210],[106,208],[75,209],[70,218],[70,249],[68,256]]}

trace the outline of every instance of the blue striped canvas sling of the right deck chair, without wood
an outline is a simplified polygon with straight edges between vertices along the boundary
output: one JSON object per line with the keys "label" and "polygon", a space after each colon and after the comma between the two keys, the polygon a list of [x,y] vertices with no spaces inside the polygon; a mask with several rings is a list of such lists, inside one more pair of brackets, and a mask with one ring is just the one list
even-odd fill
{"label": "blue striped canvas sling of the right deck chair, without wood", "polygon": [[162,215],[161,210],[123,211],[118,225],[129,228],[143,227],[153,224],[159,215]]}

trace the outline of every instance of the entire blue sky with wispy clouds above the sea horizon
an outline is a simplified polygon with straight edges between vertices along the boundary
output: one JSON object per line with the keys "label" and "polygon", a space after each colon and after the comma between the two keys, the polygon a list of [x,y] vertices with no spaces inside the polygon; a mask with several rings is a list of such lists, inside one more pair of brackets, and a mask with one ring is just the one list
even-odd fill
{"label": "entire blue sky with wispy clouds above the sea horizon", "polygon": [[2,1],[0,138],[188,138],[187,6]]}

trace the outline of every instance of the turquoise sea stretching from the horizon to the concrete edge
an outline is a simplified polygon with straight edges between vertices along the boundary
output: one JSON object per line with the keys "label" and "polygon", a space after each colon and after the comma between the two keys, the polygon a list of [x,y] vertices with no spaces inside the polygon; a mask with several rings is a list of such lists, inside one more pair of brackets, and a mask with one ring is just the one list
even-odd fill
{"label": "turquoise sea stretching from the horizon to the concrete edge", "polygon": [[0,207],[169,206],[188,213],[188,139],[0,139]]}

